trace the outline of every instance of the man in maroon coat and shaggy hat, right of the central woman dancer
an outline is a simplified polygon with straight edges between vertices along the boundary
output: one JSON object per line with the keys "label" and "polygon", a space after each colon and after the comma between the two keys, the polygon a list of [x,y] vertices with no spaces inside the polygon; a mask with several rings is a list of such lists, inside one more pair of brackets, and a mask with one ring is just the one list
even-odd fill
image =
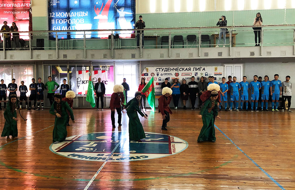
{"label": "man in maroon coat and shaggy hat, right of the central woman dancer", "polygon": [[167,127],[167,123],[170,121],[170,115],[172,114],[172,111],[169,107],[169,104],[171,102],[172,99],[172,90],[169,87],[164,87],[162,89],[162,96],[158,99],[159,101],[159,113],[161,112],[162,114],[162,118],[163,118],[163,123],[162,123],[162,130],[167,131],[166,127]]}

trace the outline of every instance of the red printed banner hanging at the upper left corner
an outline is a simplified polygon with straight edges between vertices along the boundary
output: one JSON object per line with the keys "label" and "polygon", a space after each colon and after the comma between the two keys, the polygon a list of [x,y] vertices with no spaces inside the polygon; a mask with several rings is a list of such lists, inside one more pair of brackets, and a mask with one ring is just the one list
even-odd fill
{"label": "red printed banner hanging at the upper left corner", "polygon": [[[0,22],[12,26],[15,22],[19,31],[29,31],[30,0],[0,0]],[[22,33],[19,38],[29,39],[28,33]]]}

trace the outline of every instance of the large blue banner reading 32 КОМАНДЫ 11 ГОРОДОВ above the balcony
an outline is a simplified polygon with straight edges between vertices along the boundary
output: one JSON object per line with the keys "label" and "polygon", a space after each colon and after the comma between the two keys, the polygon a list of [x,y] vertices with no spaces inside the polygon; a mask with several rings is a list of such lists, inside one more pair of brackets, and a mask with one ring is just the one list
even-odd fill
{"label": "large blue banner reading 32 \u041a\u041e\u041c\u0410\u041d\u0414\u042b 11 \u0413\u041e\u0420\u041e\u0414\u041e\u0412 above the balcony", "polygon": [[[49,30],[134,29],[135,0],[50,0],[48,19]],[[132,31],[119,33],[130,37]],[[83,39],[83,32],[62,34],[69,33],[59,33],[59,39]],[[86,34],[86,38],[107,38],[110,32]]]}

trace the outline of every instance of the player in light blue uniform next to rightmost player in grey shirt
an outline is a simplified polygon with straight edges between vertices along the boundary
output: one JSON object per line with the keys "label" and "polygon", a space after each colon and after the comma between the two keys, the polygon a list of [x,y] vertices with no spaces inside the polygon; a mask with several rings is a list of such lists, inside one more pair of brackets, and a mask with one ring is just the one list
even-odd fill
{"label": "player in light blue uniform next to rightmost player in grey shirt", "polygon": [[[282,81],[278,80],[278,74],[275,74],[274,78],[271,81],[271,107],[273,108],[272,111],[278,111],[278,99],[282,95]],[[275,101],[276,106],[274,107]]]}

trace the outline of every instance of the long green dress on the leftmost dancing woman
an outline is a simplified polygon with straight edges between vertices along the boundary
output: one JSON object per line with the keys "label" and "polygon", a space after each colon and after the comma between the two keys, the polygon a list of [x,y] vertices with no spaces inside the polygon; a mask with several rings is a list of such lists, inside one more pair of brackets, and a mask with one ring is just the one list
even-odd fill
{"label": "long green dress on the leftmost dancing woman", "polygon": [[7,102],[6,109],[4,111],[4,118],[5,118],[5,124],[2,131],[1,136],[13,136],[17,137],[17,121],[12,119],[13,117],[17,118],[17,112],[15,111],[16,104],[12,104],[9,101]]}

